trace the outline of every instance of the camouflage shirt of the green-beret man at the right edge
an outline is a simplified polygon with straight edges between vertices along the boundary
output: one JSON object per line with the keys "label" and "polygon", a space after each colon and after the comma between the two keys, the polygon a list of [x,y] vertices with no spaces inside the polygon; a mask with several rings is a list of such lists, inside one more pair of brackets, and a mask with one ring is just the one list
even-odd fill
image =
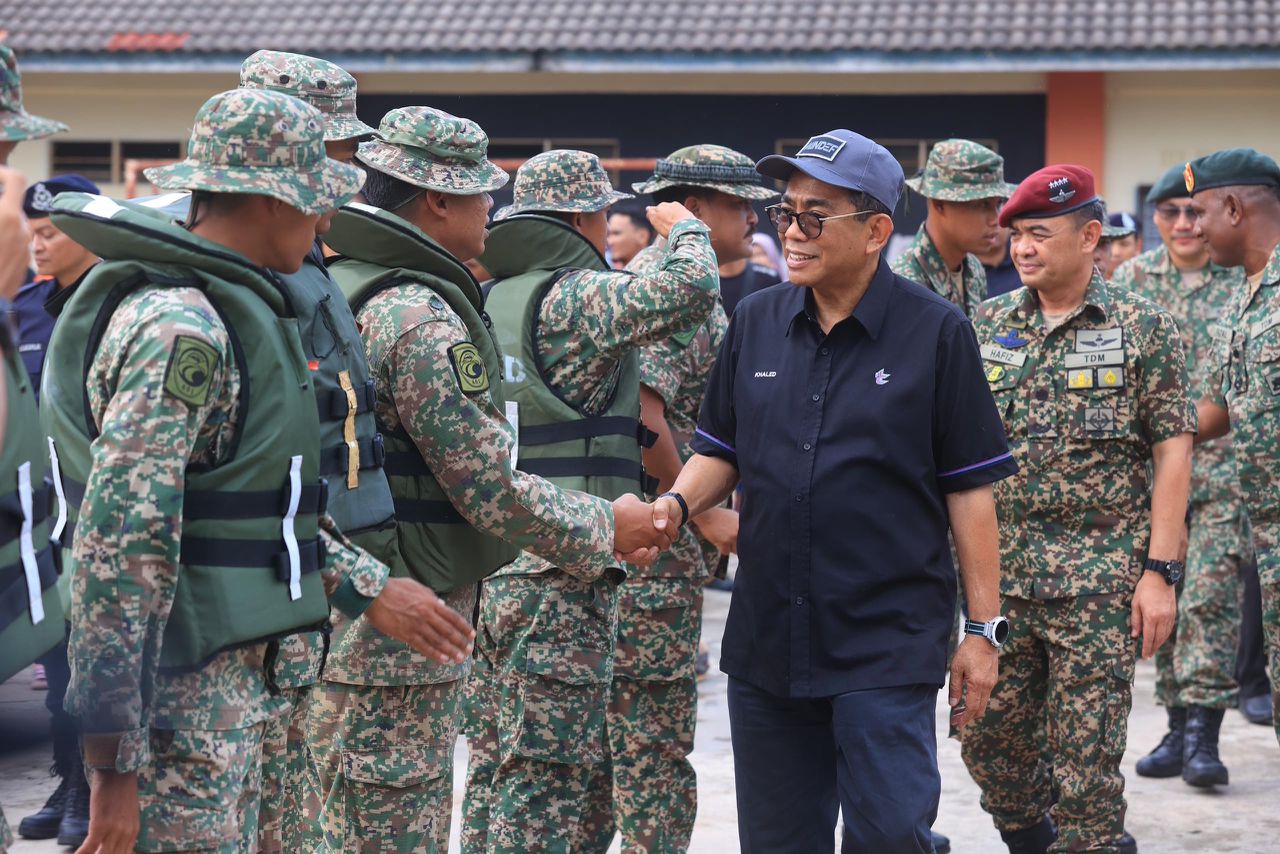
{"label": "camouflage shirt of the green-beret man at the right edge", "polygon": [[1235,289],[1219,344],[1212,398],[1231,412],[1240,494],[1249,511],[1258,572],[1280,576],[1280,246],[1262,270],[1262,284]]}

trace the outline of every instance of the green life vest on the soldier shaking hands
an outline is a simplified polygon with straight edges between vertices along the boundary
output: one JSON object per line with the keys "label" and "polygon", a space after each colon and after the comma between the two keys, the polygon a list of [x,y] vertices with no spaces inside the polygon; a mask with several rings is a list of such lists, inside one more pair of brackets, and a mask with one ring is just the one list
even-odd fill
{"label": "green life vest on the soldier shaking hands", "polygon": [[[489,376],[502,375],[498,344],[483,314],[475,277],[421,229],[389,211],[355,204],[338,211],[325,242],[343,255],[329,271],[353,314],[358,315],[381,291],[419,286],[425,291],[424,300],[443,300],[462,319]],[[375,365],[384,357],[381,352],[369,353]],[[500,410],[502,388],[494,384],[488,393]],[[384,466],[397,533],[394,542],[387,536],[357,538],[361,545],[394,575],[417,579],[438,593],[476,584],[516,560],[520,549],[474,528],[454,510],[403,429],[379,424],[379,430],[387,444]],[[457,440],[468,442],[471,437]]]}

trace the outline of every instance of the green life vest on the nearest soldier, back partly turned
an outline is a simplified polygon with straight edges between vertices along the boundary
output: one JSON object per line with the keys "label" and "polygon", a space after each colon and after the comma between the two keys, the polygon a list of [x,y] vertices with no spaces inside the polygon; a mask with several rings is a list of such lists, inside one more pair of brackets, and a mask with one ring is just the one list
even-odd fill
{"label": "green life vest on the nearest soldier, back partly turned", "polygon": [[239,420],[229,458],[186,471],[180,571],[160,666],[198,667],[223,649],[323,626],[329,603],[317,534],[328,488],[315,392],[284,287],[160,213],[63,193],[52,220],[105,259],[54,326],[41,389],[55,488],[65,498],[56,535],[70,543],[84,497],[99,435],[86,374],[111,315],[140,288],[200,288],[232,341]]}

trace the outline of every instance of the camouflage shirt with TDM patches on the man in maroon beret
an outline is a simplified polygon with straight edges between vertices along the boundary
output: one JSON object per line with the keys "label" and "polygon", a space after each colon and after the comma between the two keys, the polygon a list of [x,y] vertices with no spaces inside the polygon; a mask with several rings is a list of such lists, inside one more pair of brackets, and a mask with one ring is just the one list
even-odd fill
{"label": "camouflage shirt with TDM patches on the man in maroon beret", "polygon": [[996,483],[1001,592],[1132,593],[1151,538],[1152,447],[1196,430],[1172,316],[1094,271],[1047,334],[1028,288],[987,301],[974,325],[1018,460]]}

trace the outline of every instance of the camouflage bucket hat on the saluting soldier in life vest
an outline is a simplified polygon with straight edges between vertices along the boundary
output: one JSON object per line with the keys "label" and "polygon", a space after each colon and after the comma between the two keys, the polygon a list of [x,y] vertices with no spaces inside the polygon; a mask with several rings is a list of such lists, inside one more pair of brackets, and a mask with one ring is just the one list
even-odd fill
{"label": "camouflage bucket hat on the saluting soldier in life vest", "polygon": [[618,192],[600,159],[588,151],[543,151],[516,172],[512,204],[498,210],[494,222],[525,211],[593,214],[631,193]]}

